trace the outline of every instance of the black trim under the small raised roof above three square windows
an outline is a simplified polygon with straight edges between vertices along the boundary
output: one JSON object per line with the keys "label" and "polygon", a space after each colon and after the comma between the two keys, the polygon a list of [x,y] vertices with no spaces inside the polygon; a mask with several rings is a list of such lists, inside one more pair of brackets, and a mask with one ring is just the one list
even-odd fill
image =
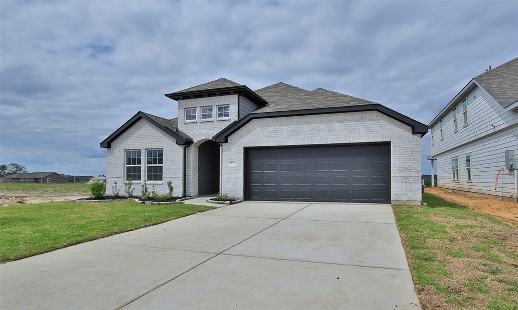
{"label": "black trim under the small raised roof above three square windows", "polygon": [[257,95],[252,89],[248,88],[246,85],[240,86],[230,86],[230,87],[221,87],[221,88],[212,88],[212,89],[202,89],[202,90],[191,90],[191,91],[177,91],[172,92],[171,94],[165,94],[167,98],[172,100],[184,100],[184,99],[193,99],[193,98],[202,98],[202,97],[214,97],[214,96],[226,96],[226,95],[241,95],[250,99],[257,105],[267,105],[268,101],[264,100],[261,96]]}

